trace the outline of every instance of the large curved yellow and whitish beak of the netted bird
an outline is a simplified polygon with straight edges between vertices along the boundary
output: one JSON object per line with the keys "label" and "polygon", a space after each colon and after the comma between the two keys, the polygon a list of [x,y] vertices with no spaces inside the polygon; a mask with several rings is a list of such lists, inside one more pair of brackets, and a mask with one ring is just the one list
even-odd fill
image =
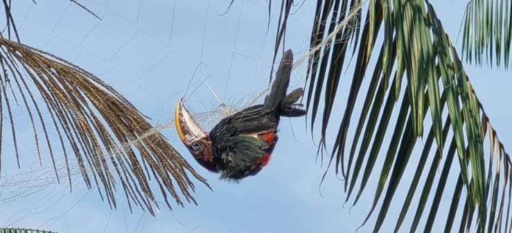
{"label": "large curved yellow and whitish beak of the netted bird", "polygon": [[185,146],[190,146],[198,139],[206,138],[204,131],[184,107],[183,98],[180,98],[176,105],[174,119],[179,139],[182,139]]}

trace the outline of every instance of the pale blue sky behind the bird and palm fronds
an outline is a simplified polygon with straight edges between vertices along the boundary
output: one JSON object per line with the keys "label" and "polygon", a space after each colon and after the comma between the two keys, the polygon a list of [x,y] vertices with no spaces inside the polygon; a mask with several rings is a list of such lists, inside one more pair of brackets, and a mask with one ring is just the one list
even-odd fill
{"label": "pale blue sky behind the bird and palm fronds", "polygon": [[[173,120],[175,103],[185,93],[186,104],[194,112],[216,109],[219,103],[202,83],[204,79],[221,101],[234,106],[240,106],[267,85],[278,5],[273,6],[274,24],[267,31],[265,1],[235,1],[225,15],[220,14],[227,10],[230,1],[80,2],[103,20],[98,21],[69,1],[38,1],[37,5],[31,1],[14,3],[14,17],[19,22],[22,42],[96,74],[151,116],[152,123]],[[465,2],[438,0],[432,3],[446,31],[456,42]],[[296,10],[290,16],[286,48],[294,50],[297,60],[307,52],[315,6],[312,1],[305,1]],[[457,44],[459,48],[460,41]],[[305,70],[305,64],[294,70],[292,87],[303,85]],[[509,123],[512,112],[500,105],[512,97],[508,89],[512,86],[510,78],[504,70],[487,67],[467,65],[466,71],[493,126],[507,145],[512,141]],[[191,87],[185,92],[189,82]],[[345,96],[340,93],[339,101],[344,101]],[[21,108],[16,114],[26,117]],[[342,109],[333,114],[341,117]],[[207,121],[213,122],[215,117]],[[373,200],[375,177],[358,205],[351,208],[347,203],[344,206],[344,183],[335,177],[333,170],[320,185],[327,160],[324,158],[323,166],[320,160],[315,162],[317,148],[307,128],[305,118],[283,119],[279,144],[270,164],[257,176],[240,184],[220,181],[217,174],[197,166],[177,139],[174,128],[162,130],[209,180],[214,191],[197,183],[195,198],[199,205],[173,206],[173,211],[161,209],[152,217],[139,209],[130,214],[124,201],[118,209],[109,209],[96,190],[85,188],[80,176],[74,178],[76,184],[72,193],[66,184],[55,184],[53,171],[48,169],[33,171],[32,176],[14,176],[37,169],[37,156],[27,126],[27,130],[21,128],[19,132],[25,136],[20,139],[22,164],[28,165],[21,170],[12,167],[15,160],[12,150],[8,149],[10,142],[3,139],[6,146],[0,179],[0,226],[57,232],[354,232]],[[335,137],[334,132],[335,129],[330,132],[331,139]],[[45,164],[49,162],[49,157],[44,158]],[[412,174],[412,171],[407,172],[405,177]],[[17,183],[1,186],[9,178]],[[35,178],[39,179],[34,181]],[[2,202],[2,198],[12,192],[26,193],[21,190],[39,190],[41,186],[47,188],[21,200]],[[407,191],[407,187],[400,187],[399,191]],[[121,192],[117,196],[119,200],[124,198]],[[446,211],[448,205],[441,208],[440,212]],[[396,211],[399,209],[390,209],[389,219],[398,214]],[[375,217],[359,232],[371,231]],[[403,230],[408,226],[406,224]],[[393,227],[394,221],[389,221],[382,232],[389,232]]]}

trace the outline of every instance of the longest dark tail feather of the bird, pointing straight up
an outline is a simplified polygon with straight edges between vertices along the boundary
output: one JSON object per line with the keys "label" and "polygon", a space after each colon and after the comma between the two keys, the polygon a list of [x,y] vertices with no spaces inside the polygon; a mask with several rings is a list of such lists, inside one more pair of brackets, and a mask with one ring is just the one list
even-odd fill
{"label": "longest dark tail feather of the bird, pointing straight up", "polygon": [[279,69],[277,69],[276,78],[272,84],[270,94],[265,96],[265,109],[274,109],[278,107],[286,96],[286,90],[290,84],[290,74],[292,73],[293,52],[288,49],[281,58]]}

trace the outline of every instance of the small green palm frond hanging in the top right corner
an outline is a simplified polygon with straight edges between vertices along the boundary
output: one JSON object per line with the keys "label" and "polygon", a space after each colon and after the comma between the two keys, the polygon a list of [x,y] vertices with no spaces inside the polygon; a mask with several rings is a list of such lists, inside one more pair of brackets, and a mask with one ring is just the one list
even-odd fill
{"label": "small green palm frond hanging in the top right corner", "polygon": [[[464,13],[462,55],[467,62],[509,67],[512,42],[512,3],[471,0]],[[485,55],[485,58],[484,58]]]}

